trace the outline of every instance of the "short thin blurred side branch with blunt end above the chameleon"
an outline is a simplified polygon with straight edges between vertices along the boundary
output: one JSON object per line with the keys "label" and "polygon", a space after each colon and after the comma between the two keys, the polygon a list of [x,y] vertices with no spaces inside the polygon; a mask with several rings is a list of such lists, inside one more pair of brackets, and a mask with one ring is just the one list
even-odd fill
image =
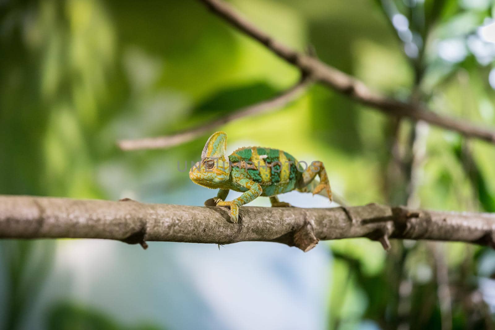
{"label": "short thin blurred side branch with blunt end above the chameleon", "polygon": [[281,108],[287,103],[297,99],[297,97],[299,97],[313,83],[313,81],[314,80],[310,76],[304,75],[299,82],[297,82],[290,89],[278,96],[257,104],[241,108],[235,112],[231,112],[223,117],[215,119],[199,127],[195,127],[164,137],[145,138],[139,140],[121,140],[118,141],[117,144],[122,150],[142,150],[158,148],[163,149],[186,143],[200,137],[203,134],[211,133],[211,131],[213,131],[215,128],[225,125],[236,119],[252,116],[255,114],[267,113]]}

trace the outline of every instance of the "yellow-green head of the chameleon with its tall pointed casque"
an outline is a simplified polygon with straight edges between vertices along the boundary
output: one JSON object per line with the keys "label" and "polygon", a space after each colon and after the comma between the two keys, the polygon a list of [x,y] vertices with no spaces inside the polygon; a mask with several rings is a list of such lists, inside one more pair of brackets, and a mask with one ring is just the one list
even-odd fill
{"label": "yellow-green head of the chameleon with its tall pointed casque", "polygon": [[201,161],[197,162],[189,171],[189,178],[206,188],[219,188],[229,180],[230,164],[225,155],[227,150],[227,134],[224,132],[214,133],[201,153]]}

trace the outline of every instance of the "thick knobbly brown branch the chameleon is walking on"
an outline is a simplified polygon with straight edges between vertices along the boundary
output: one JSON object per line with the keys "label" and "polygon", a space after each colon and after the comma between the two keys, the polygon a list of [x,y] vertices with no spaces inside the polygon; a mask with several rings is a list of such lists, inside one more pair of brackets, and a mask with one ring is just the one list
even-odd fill
{"label": "thick knobbly brown branch the chameleon is walking on", "polygon": [[0,196],[0,238],[105,238],[127,243],[230,244],[274,241],[303,251],[318,240],[368,237],[464,241],[495,246],[495,214],[408,210],[368,204],[336,208],[223,207]]}

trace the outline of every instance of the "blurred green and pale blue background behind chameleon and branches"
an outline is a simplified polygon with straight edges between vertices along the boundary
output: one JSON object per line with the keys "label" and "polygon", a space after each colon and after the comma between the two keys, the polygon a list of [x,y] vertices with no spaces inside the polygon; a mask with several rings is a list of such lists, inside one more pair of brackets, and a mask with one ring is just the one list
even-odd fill
{"label": "blurred green and pale blue background behind chameleon and branches", "polygon": [[[235,0],[275,38],[373,89],[494,127],[491,0]],[[291,65],[198,1],[1,0],[0,193],[202,205],[177,162],[202,138],[125,152],[120,139],[200,126],[293,85]],[[495,212],[495,146],[399,121],[313,86],[220,127],[321,160],[349,205]],[[231,192],[229,198],[236,197]],[[291,192],[297,206],[333,206]],[[252,205],[268,206],[268,198]],[[0,242],[0,329],[493,329],[495,252],[368,239],[216,245]]]}

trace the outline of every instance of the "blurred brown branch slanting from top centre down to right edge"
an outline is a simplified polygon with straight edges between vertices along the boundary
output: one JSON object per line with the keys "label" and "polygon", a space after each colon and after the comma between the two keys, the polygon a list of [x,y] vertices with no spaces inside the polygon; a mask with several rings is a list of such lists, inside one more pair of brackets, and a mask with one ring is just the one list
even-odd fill
{"label": "blurred brown branch slanting from top centre down to right edge", "polygon": [[346,94],[362,104],[375,107],[388,114],[408,117],[414,120],[423,120],[432,125],[456,131],[466,137],[495,143],[495,131],[493,129],[479,127],[465,120],[457,120],[434,113],[421,104],[405,103],[378,94],[368,88],[363,82],[344,72],[321,62],[315,57],[297,52],[273,39],[242,17],[230,4],[221,0],[200,1],[211,9],[213,13],[223,18],[238,30],[257,40],[282,59],[296,65],[301,71],[315,77],[318,81],[337,92]]}

